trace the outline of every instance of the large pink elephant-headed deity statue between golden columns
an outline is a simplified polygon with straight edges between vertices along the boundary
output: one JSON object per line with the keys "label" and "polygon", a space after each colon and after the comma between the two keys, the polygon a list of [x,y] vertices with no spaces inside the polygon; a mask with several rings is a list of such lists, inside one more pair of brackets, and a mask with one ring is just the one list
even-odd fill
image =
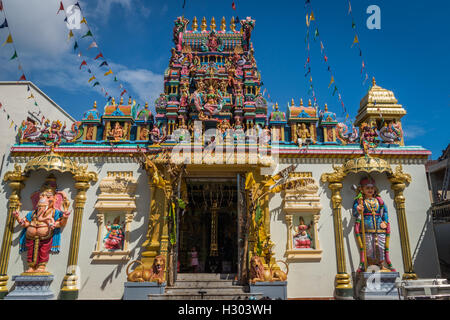
{"label": "large pink elephant-headed deity statue between golden columns", "polygon": [[53,176],[47,178],[40,192],[35,192],[31,200],[34,210],[24,218],[20,218],[18,211],[13,213],[24,228],[19,239],[20,252],[28,251],[26,273],[45,273],[50,253],[59,252],[61,229],[67,223],[70,204],[66,194],[56,190]]}

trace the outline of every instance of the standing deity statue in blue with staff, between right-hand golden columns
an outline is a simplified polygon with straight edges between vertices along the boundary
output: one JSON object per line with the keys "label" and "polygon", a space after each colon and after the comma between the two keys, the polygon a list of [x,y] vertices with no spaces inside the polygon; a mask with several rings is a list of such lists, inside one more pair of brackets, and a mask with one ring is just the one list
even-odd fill
{"label": "standing deity statue in blue with staff, between right-hand golden columns", "polygon": [[357,190],[359,193],[353,203],[354,229],[361,254],[357,271],[365,271],[369,265],[377,265],[381,271],[395,271],[389,258],[391,228],[388,211],[378,195],[375,180],[371,177],[361,179]]}

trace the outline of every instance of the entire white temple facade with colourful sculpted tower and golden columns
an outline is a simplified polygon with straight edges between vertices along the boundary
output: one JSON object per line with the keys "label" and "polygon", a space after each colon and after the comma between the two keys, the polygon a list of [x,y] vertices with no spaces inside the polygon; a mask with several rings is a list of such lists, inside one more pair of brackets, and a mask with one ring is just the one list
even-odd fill
{"label": "entire white temple facade with colourful sculpted tower and golden columns", "polygon": [[373,79],[353,124],[300,98],[269,110],[255,21],[239,24],[175,21],[155,114],[119,98],[71,130],[24,119],[2,168],[3,297],[15,275],[51,276],[60,299],[121,299],[141,280],[164,293],[193,271],[349,299],[370,267],[439,274],[431,153],[407,145],[394,93]]}

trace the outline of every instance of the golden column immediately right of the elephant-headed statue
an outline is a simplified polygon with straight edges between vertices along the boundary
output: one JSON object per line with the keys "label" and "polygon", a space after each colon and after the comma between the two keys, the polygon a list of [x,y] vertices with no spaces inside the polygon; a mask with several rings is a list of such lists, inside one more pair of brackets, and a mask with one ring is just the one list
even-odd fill
{"label": "golden column immediately right of the elephant-headed statue", "polygon": [[77,195],[74,204],[74,217],[72,222],[72,233],[70,237],[69,258],[67,261],[67,271],[63,280],[60,298],[63,300],[73,300],[78,297],[78,277],[76,267],[78,264],[78,251],[80,248],[81,224],[83,221],[84,205],[86,203],[86,191],[89,189],[89,182],[97,181],[97,173],[87,172],[87,166],[79,167],[73,176]]}

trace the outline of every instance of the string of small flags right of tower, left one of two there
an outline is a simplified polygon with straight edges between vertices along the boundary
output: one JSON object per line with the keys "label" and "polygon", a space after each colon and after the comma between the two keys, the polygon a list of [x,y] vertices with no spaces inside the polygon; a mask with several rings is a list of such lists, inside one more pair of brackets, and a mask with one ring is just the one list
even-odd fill
{"label": "string of small flags right of tower, left one of two there", "polygon": [[305,6],[306,6],[306,25],[308,26],[308,29],[309,29],[310,27],[312,27],[312,24],[314,23],[314,28],[315,28],[314,29],[314,41],[319,41],[319,43],[320,43],[320,53],[322,55],[322,60],[323,60],[323,63],[325,64],[325,66],[327,67],[328,73],[330,74],[330,83],[328,84],[328,88],[333,88],[332,95],[337,96],[339,103],[342,106],[343,114],[345,114],[345,120],[348,120],[349,114],[345,107],[344,101],[342,100],[341,92],[339,91],[339,89],[337,87],[336,77],[333,73],[333,70],[331,69],[329,58],[325,51],[324,42],[320,37],[319,24],[317,22],[317,17],[314,15],[310,1],[307,1],[307,4]]}

